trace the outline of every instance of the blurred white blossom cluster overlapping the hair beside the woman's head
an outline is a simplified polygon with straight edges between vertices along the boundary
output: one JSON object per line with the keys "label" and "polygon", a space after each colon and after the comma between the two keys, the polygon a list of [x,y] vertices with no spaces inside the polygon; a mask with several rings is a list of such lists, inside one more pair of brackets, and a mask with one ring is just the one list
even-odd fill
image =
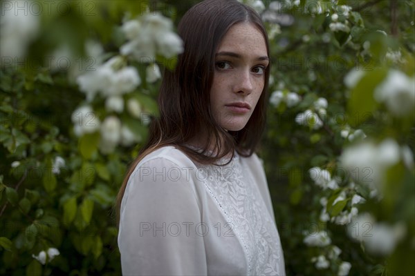
{"label": "blurred white blossom cluster overlapping the hair beside the woman's head", "polygon": [[121,46],[120,52],[140,62],[154,60],[156,52],[167,58],[174,57],[183,52],[183,41],[172,28],[172,21],[161,14],[145,14],[126,21],[122,24],[122,32],[128,41]]}

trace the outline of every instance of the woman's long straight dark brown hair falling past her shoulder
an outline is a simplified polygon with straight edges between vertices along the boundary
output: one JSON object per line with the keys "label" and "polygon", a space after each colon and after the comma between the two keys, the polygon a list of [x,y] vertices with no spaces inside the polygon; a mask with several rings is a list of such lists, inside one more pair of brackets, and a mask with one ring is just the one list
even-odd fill
{"label": "woman's long straight dark brown hair falling past her shoulder", "polygon": [[[157,148],[172,145],[190,159],[201,164],[216,161],[236,150],[249,157],[261,139],[266,121],[266,99],[270,66],[266,68],[264,90],[246,126],[227,132],[215,121],[210,110],[210,88],[214,75],[216,50],[229,28],[236,23],[249,22],[262,32],[269,55],[268,35],[259,15],[236,0],[205,0],[188,10],[178,25],[184,42],[183,54],[178,56],[174,71],[165,70],[158,95],[160,117],[149,128],[149,141],[133,161],[118,193],[116,204],[120,214],[121,200],[127,181],[143,157]],[[208,135],[202,151],[185,144],[204,129]],[[215,154],[207,154],[213,145]]]}

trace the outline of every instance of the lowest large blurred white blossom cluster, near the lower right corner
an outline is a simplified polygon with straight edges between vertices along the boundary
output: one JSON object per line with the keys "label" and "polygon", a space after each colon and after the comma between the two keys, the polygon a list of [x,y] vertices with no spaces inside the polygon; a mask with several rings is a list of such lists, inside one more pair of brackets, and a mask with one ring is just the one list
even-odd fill
{"label": "lowest large blurred white blossom cluster, near the lower right corner", "polygon": [[363,242],[369,253],[389,255],[405,237],[406,226],[402,222],[394,225],[378,223],[371,214],[363,213],[352,220],[347,233],[352,239]]}

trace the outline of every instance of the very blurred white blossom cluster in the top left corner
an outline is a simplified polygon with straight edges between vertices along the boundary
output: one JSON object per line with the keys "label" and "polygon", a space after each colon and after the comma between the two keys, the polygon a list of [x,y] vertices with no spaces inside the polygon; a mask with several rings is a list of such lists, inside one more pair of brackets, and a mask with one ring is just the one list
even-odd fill
{"label": "very blurred white blossom cluster in the top left corner", "polygon": [[[28,7],[30,1],[15,1],[12,5]],[[28,12],[25,8],[6,9],[1,5],[0,18],[0,57],[24,57],[30,41],[37,37],[40,16]]]}

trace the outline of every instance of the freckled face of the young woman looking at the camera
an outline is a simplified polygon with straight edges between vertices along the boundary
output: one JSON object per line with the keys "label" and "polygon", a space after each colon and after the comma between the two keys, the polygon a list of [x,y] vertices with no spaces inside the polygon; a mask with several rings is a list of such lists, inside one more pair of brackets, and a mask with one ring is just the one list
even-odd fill
{"label": "freckled face of the young woman looking at the camera", "polygon": [[210,90],[210,108],[222,128],[246,126],[264,89],[268,63],[265,39],[255,25],[237,23],[228,30],[216,52]]}

